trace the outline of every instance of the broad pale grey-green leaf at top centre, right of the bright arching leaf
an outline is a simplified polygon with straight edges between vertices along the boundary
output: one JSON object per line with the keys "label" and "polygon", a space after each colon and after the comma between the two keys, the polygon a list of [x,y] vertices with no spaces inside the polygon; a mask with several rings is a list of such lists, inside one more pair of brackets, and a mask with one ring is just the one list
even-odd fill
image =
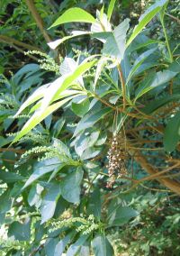
{"label": "broad pale grey-green leaf at top centre, right of the bright arching leaf", "polygon": [[126,33],[130,27],[130,20],[120,23],[113,32],[109,33],[103,46],[103,54],[121,61],[123,59],[126,43]]}

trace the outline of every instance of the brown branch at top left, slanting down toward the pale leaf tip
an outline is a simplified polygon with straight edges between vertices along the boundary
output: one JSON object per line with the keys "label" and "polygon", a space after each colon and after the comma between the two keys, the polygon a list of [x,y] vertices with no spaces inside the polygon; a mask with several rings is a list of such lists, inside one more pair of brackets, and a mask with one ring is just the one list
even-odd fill
{"label": "brown branch at top left, slanting down toward the pale leaf tip", "polygon": [[29,8],[33,18],[39,27],[40,32],[43,34],[45,41],[47,41],[47,42],[52,41],[49,37],[49,34],[44,29],[43,21],[40,17],[40,14],[38,13],[38,11],[36,9],[36,6],[33,3],[33,0],[25,0],[25,2],[26,2],[26,5],[28,5],[28,8]]}

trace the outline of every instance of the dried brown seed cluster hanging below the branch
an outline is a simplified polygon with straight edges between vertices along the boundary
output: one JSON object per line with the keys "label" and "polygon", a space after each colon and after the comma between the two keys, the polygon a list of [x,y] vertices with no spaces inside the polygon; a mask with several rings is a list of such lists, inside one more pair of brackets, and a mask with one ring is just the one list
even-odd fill
{"label": "dried brown seed cluster hanging below the branch", "polygon": [[117,135],[112,137],[111,148],[107,153],[107,159],[109,160],[106,168],[108,169],[108,174],[110,181],[107,187],[112,187],[116,178],[121,178],[122,175],[127,174],[125,167],[125,157],[126,152],[121,149],[120,140]]}

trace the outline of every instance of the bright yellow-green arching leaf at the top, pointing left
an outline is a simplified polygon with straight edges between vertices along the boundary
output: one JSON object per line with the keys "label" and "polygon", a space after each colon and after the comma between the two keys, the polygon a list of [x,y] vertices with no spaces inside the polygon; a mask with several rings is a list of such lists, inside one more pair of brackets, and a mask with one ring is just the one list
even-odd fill
{"label": "bright yellow-green arching leaf at the top, pointing left", "polygon": [[85,12],[81,8],[70,8],[62,14],[49,28],[58,26],[64,23],[95,23],[94,16]]}

